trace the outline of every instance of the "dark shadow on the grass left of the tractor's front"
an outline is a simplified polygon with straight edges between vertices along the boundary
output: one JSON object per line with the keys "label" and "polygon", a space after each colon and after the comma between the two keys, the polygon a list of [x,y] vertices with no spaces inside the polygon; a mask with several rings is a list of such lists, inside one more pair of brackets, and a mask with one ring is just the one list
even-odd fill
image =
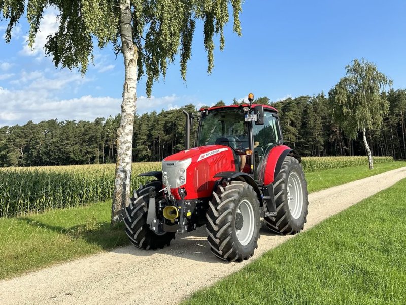
{"label": "dark shadow on the grass left of the tractor's front", "polygon": [[20,217],[19,220],[25,221],[31,226],[67,235],[73,239],[82,239],[87,243],[94,243],[103,250],[120,247],[128,243],[127,236],[124,233],[124,224],[122,223],[110,227],[110,223],[107,222],[90,221],[72,227],[63,227],[52,226],[27,217]]}

